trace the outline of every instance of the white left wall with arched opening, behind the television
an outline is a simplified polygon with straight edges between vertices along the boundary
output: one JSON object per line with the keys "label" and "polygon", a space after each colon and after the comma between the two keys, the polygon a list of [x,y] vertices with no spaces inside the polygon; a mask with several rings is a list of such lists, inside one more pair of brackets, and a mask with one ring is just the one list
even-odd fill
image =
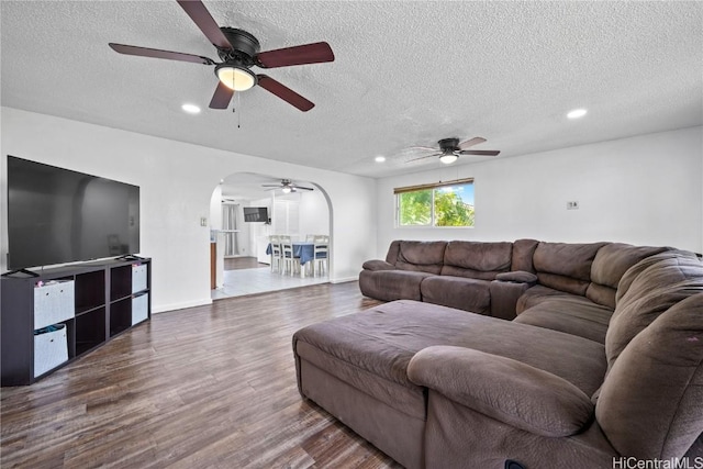
{"label": "white left wall with arched opening, behind the television", "polygon": [[[331,280],[356,279],[375,255],[375,187],[370,178],[291,165],[3,107],[2,155],[14,155],[141,187],[142,255],[154,259],[153,308],[209,303],[210,215],[220,180],[241,171],[319,185],[332,202]],[[7,159],[0,165],[0,269],[7,270]]]}

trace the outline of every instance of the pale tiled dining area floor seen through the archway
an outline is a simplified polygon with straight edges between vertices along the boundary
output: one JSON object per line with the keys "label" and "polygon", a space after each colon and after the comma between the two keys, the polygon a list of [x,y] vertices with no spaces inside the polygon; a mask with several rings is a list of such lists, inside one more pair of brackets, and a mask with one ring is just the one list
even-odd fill
{"label": "pale tiled dining area floor seen through the archway", "polygon": [[220,300],[223,298],[242,297],[245,294],[263,293],[266,291],[287,290],[289,288],[305,287],[310,284],[328,282],[327,276],[301,278],[297,276],[282,276],[271,271],[269,266],[235,269],[224,271],[224,286],[212,290],[211,298]]}

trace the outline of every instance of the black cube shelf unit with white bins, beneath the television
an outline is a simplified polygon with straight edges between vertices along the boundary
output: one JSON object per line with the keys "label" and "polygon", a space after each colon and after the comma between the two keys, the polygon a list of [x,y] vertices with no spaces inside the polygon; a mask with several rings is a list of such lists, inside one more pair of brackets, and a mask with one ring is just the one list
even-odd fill
{"label": "black cube shelf unit with white bins, beneath the television", "polygon": [[[3,387],[31,384],[152,315],[148,258],[86,263],[36,273],[0,279]],[[57,342],[65,337],[66,344],[46,361],[38,355],[51,350],[47,346],[54,337],[40,337],[34,331],[53,324],[64,325],[51,334]]]}

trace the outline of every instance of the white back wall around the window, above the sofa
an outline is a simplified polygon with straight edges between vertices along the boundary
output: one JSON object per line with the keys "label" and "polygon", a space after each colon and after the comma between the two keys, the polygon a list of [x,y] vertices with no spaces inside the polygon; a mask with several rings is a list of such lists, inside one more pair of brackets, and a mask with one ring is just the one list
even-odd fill
{"label": "white back wall around the window, above the sofa", "polygon": [[[521,237],[701,253],[702,134],[699,126],[381,179],[377,257],[393,239]],[[473,228],[395,227],[393,188],[468,177],[476,178]],[[580,209],[567,210],[567,201]]]}

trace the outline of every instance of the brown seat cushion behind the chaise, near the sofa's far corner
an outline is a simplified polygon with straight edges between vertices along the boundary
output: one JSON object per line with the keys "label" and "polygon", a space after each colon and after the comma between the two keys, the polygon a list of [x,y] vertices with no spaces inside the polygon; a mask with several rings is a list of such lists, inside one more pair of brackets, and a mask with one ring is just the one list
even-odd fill
{"label": "brown seat cushion behind the chaise, near the sofa's far corner", "polygon": [[523,312],[514,321],[605,343],[613,310],[583,297],[569,295],[545,300]]}

